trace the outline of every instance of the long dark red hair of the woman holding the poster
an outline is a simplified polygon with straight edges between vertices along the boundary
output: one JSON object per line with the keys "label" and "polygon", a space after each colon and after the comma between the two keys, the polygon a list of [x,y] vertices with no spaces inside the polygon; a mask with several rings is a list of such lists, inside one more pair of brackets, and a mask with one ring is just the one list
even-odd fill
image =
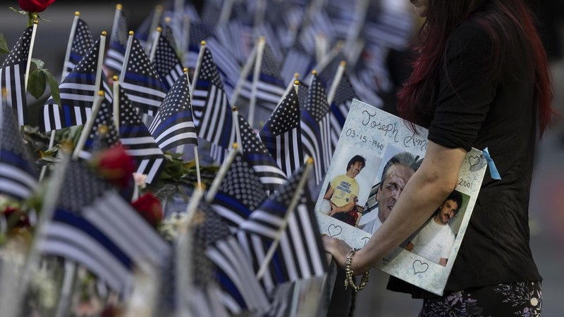
{"label": "long dark red hair of the woman holding the poster", "polygon": [[[473,15],[486,6],[491,13]],[[469,18],[490,34],[493,43],[491,77],[501,70],[504,54],[530,48],[534,66],[534,96],[542,135],[553,112],[550,70],[532,13],[522,0],[429,0],[427,20],[419,32],[420,42],[415,48],[418,56],[413,63],[412,75],[398,93],[400,115],[425,127],[429,125],[434,112],[434,93],[439,90],[436,71],[441,66],[441,56],[455,27]],[[507,30],[517,30],[518,34],[510,34]],[[515,37],[519,40],[515,41]]]}

